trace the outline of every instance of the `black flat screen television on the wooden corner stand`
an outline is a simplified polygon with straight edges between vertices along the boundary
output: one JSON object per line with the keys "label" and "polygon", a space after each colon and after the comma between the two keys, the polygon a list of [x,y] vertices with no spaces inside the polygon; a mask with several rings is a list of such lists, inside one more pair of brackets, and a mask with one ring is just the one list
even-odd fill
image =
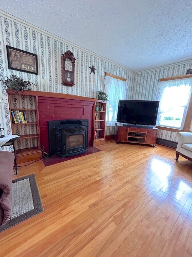
{"label": "black flat screen television on the wooden corner stand", "polygon": [[159,101],[119,100],[117,122],[155,126]]}

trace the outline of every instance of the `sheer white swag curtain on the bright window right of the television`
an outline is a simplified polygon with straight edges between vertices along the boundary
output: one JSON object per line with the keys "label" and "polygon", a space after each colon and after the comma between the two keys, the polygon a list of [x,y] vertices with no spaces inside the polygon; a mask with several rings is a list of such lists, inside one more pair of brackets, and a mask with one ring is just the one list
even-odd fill
{"label": "sheer white swag curtain on the bright window right of the television", "polygon": [[[187,105],[191,85],[192,78],[160,81],[158,83],[155,100],[160,102],[156,125],[161,122],[161,114],[173,110],[175,106]],[[183,95],[184,91],[185,94]],[[163,95],[164,97],[162,98]]]}

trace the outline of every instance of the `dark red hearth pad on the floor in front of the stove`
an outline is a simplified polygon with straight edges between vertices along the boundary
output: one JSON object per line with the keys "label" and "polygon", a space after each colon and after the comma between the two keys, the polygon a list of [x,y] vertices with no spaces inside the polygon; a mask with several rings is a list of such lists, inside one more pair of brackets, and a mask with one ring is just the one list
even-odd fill
{"label": "dark red hearth pad on the floor in front of the stove", "polygon": [[53,165],[53,164],[56,164],[56,163],[61,163],[61,162],[64,162],[64,161],[68,161],[68,160],[71,160],[71,159],[74,159],[74,158],[78,158],[78,157],[81,157],[81,156],[85,156],[85,155],[88,155],[88,154],[91,154],[91,153],[97,153],[97,152],[101,151],[95,146],[88,146],[87,150],[88,151],[85,152],[85,153],[77,154],[75,156],[70,156],[70,157],[64,157],[64,158],[61,158],[58,155],[52,155],[51,157],[47,157],[47,158],[43,159],[43,162],[44,162],[45,166],[49,166],[49,165]]}

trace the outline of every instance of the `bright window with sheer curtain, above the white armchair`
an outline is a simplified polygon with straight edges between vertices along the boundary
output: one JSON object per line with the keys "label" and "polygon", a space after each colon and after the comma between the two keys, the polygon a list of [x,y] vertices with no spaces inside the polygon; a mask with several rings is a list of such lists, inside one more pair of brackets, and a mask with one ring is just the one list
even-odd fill
{"label": "bright window with sheer curtain, above the white armchair", "polygon": [[192,78],[158,83],[155,100],[160,101],[157,125],[183,129],[191,94]]}

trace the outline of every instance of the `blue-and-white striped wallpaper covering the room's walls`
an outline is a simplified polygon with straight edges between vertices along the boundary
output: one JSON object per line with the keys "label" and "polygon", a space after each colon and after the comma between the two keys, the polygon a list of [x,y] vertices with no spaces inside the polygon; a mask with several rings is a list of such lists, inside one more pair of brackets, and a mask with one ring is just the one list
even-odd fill
{"label": "blue-and-white striped wallpaper covering the room's walls", "polygon": [[[34,75],[8,69],[6,45],[29,51],[38,55],[38,74]],[[70,50],[75,58],[75,85],[61,84],[61,55]],[[97,69],[90,74],[89,66]],[[0,78],[11,74],[30,80],[32,90],[73,94],[97,98],[97,92],[104,90],[104,72],[127,79],[127,99],[154,100],[159,78],[186,74],[192,60],[170,66],[136,73],[117,63],[67,42],[51,33],[0,11]],[[0,95],[6,96],[5,86],[0,81]],[[0,127],[5,135],[11,134],[10,117],[7,103],[0,103]],[[116,134],[116,127],[106,127],[106,135]],[[159,138],[176,141],[175,133],[159,131]],[[0,147],[0,150],[12,150]]]}

